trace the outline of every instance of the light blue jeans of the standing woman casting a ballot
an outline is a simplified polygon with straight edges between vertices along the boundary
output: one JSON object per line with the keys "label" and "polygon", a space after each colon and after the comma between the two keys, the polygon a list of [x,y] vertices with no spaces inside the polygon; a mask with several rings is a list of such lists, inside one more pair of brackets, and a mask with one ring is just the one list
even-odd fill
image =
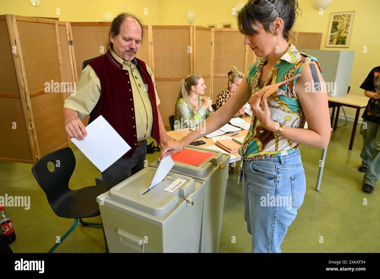
{"label": "light blue jeans of the standing woman casting a ballot", "polygon": [[252,252],[281,253],[306,192],[299,149],[285,156],[245,160],[243,168],[244,219],[252,235]]}

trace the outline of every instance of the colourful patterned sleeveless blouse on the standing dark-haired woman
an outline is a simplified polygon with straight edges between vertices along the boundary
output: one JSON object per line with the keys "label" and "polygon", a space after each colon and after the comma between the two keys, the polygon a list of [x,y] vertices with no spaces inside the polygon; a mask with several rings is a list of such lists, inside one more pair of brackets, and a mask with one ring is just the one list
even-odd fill
{"label": "colourful patterned sleeveless blouse on the standing dark-haired woman", "polygon": [[[263,86],[281,82],[298,75],[304,66],[310,61],[315,61],[321,70],[315,57],[299,52],[296,47],[291,44],[280,60],[277,61],[271,69]],[[261,89],[258,82],[261,71],[266,62],[266,57],[263,57],[248,70],[247,83],[252,94],[255,94]],[[324,79],[322,71],[321,74]],[[297,79],[298,78],[293,79],[292,81],[279,86],[277,92],[267,98],[267,103],[269,110],[271,111],[272,120],[283,126],[304,128],[306,119],[301,103],[299,103],[296,92],[294,91],[294,85],[296,84]],[[243,144],[239,148],[239,154],[241,155],[242,160],[240,163],[237,183],[240,183],[241,180],[243,160],[261,160],[287,155],[293,152],[298,145],[298,143],[290,141],[281,135],[277,137],[271,131],[263,128],[253,114],[247,136],[245,136]]]}

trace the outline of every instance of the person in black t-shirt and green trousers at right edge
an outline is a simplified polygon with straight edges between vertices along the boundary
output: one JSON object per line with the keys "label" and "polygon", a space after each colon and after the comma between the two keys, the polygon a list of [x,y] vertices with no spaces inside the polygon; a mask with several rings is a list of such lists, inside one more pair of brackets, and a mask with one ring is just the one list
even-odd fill
{"label": "person in black t-shirt and green trousers at right edge", "polygon": [[360,127],[364,141],[358,170],[365,173],[363,191],[372,192],[380,174],[380,66],[370,71],[360,88],[369,100]]}

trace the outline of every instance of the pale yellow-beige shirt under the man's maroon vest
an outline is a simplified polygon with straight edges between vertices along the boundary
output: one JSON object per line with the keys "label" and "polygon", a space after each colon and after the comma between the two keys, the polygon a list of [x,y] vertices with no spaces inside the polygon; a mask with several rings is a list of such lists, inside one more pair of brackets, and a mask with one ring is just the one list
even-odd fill
{"label": "pale yellow-beige shirt under the man's maroon vest", "polygon": [[[146,140],[150,137],[152,132],[153,110],[150,103],[149,93],[147,90],[144,91],[144,82],[142,81],[142,77],[136,65],[133,63],[136,62],[136,59],[133,59],[131,63],[128,64],[117,56],[112,49],[111,54],[123,65],[123,70],[128,70],[133,93],[133,102],[135,105],[137,140]],[[150,70],[148,65],[146,65],[146,68],[153,81],[156,103],[158,106],[160,104],[160,99],[157,95],[152,70]],[[84,119],[91,113],[92,109],[95,108],[95,105],[100,98],[100,94],[100,80],[92,67],[87,65],[79,76],[79,82],[76,86],[76,94],[71,95],[65,100],[63,108],[70,108],[76,111],[79,118]]]}

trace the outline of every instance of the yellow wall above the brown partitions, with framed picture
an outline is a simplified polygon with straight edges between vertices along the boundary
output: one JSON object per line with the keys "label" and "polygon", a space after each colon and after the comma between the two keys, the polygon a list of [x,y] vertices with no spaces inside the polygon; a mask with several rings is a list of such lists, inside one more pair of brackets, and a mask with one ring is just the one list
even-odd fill
{"label": "yellow wall above the brown partitions, with framed picture", "polygon": [[[236,28],[236,18],[231,15],[231,8],[237,1],[230,0],[138,0],[135,2],[122,0],[41,0],[38,8],[30,5],[28,0],[0,0],[0,14],[12,13],[22,16],[59,17],[61,21],[103,21],[103,14],[129,11],[141,17],[144,24],[152,25],[188,25],[186,14],[189,10],[195,13],[193,25],[233,23]],[[243,1],[244,3],[246,0]],[[127,9],[124,9],[127,5]],[[294,30],[301,32],[322,32],[322,49],[355,50],[355,59],[351,73],[350,94],[363,94],[359,89],[361,82],[369,71],[380,65],[380,36],[376,23],[380,6],[378,0],[333,0],[323,15],[311,5],[311,0],[299,0],[302,10]],[[57,16],[56,8],[60,8]],[[144,8],[148,14],[144,15]],[[330,14],[344,11],[355,11],[351,29],[349,48],[326,48],[326,37],[330,22]],[[367,53],[363,47],[367,46]],[[157,55],[157,54],[155,54]],[[317,57],[318,58],[318,57]],[[218,59],[218,57],[215,57]],[[323,65],[321,65],[323,70]],[[339,85],[338,85],[339,86]],[[347,108],[348,115],[354,116],[354,111]]]}

